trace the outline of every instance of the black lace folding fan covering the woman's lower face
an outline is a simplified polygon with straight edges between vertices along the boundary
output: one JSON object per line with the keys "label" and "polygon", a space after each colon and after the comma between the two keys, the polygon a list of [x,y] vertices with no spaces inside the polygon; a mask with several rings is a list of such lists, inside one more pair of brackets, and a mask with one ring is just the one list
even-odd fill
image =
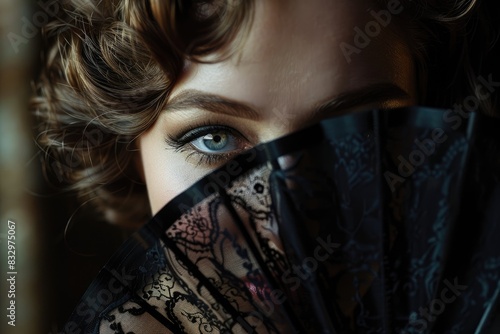
{"label": "black lace folding fan covering the woman's lower face", "polygon": [[450,113],[350,114],[238,156],[121,247],[65,331],[496,333],[500,122]]}

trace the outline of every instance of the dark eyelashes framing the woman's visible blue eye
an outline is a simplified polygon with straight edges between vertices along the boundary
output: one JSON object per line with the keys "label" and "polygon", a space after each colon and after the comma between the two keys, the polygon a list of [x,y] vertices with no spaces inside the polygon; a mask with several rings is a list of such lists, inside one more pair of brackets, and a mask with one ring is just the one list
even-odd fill
{"label": "dark eyelashes framing the woman's visible blue eye", "polygon": [[196,163],[199,165],[216,165],[222,163],[224,161],[229,160],[232,156],[235,155],[234,152],[231,153],[219,153],[219,154],[209,154],[198,151],[194,148],[191,142],[201,136],[207,135],[209,133],[224,131],[229,133],[230,135],[236,137],[245,137],[237,130],[220,124],[206,122],[199,125],[191,126],[189,129],[182,131],[179,135],[169,135],[165,137],[165,142],[167,145],[171,146],[175,152],[188,152],[191,151],[187,156],[186,160],[190,159],[193,156],[199,156],[199,160]]}

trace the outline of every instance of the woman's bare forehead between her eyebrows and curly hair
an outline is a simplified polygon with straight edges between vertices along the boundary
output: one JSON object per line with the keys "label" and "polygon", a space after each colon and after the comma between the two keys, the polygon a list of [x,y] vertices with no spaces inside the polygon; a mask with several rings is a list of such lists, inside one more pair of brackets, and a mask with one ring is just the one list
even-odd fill
{"label": "woman's bare forehead between her eyebrows and curly hair", "polygon": [[[367,0],[266,0],[239,53],[215,64],[191,64],[172,92],[197,89],[258,109],[305,110],[329,96],[372,83],[411,82],[411,58],[395,20],[346,57],[356,33],[374,21]],[[358,29],[359,28],[359,29]]]}

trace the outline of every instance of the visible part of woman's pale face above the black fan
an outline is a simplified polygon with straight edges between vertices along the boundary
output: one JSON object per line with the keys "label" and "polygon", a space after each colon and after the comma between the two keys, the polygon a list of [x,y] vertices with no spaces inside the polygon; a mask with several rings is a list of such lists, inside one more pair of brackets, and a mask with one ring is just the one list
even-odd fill
{"label": "visible part of woman's pale face above the black fan", "polygon": [[[416,102],[414,63],[396,14],[363,48],[355,44],[356,27],[377,23],[370,10],[387,8],[359,0],[255,2],[240,52],[188,64],[166,110],[139,138],[153,214],[258,143],[338,113]],[[348,57],[347,44],[357,48]]]}

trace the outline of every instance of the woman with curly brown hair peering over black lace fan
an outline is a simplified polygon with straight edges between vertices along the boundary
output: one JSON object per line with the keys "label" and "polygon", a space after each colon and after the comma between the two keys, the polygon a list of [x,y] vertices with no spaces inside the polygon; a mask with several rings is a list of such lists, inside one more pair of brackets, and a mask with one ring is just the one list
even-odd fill
{"label": "woman with curly brown hair peering over black lace fan", "polygon": [[[331,116],[449,108],[468,96],[475,110],[498,116],[498,77],[483,67],[491,59],[482,39],[494,40],[485,1],[60,6],[64,16],[45,31],[39,142],[72,189],[124,226],[142,225],[239,153]],[[271,249],[282,253],[274,232]],[[94,327],[161,331],[147,319],[121,323],[115,311]],[[176,317],[171,331],[200,330],[189,327],[194,316]],[[235,332],[288,328],[256,319],[221,323]],[[211,330],[223,331],[218,321]]]}

